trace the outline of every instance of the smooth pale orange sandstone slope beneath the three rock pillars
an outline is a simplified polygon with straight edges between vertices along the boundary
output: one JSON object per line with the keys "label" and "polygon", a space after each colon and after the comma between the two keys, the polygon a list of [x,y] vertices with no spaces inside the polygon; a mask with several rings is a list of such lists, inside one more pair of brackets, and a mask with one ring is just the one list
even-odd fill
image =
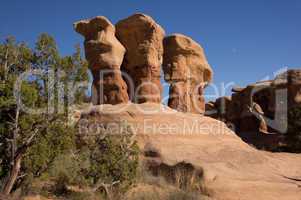
{"label": "smooth pale orange sandstone slope beneath the three rock pillars", "polygon": [[301,174],[300,155],[258,151],[224,123],[199,114],[159,104],[130,104],[120,110],[121,106],[89,107],[80,111],[80,119],[113,130],[119,130],[114,123],[127,121],[136,135],[140,158],[155,163],[150,165],[154,175],[165,177],[166,170],[171,170],[166,177],[170,181],[180,168],[184,177],[203,177],[213,199],[300,199],[300,182],[296,181]]}

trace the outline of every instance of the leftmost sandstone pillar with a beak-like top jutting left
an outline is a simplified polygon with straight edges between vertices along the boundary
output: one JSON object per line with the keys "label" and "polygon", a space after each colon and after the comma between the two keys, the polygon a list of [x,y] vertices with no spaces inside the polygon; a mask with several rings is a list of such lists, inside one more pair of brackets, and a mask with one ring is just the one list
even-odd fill
{"label": "leftmost sandstone pillar with a beak-like top jutting left", "polygon": [[85,37],[85,54],[93,74],[93,104],[127,103],[127,85],[120,72],[125,48],[115,37],[115,27],[98,16],[76,22],[74,28]]}

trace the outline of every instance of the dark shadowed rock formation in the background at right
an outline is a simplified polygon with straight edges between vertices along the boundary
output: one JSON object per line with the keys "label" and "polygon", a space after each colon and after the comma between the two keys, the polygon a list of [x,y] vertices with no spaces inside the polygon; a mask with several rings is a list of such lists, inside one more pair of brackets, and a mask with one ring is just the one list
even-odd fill
{"label": "dark shadowed rock formation in the background at right", "polygon": [[257,82],[245,88],[233,88],[232,97],[221,97],[206,105],[206,114],[235,126],[237,132],[281,132],[277,123],[290,108],[301,105],[301,70],[288,70],[274,80]]}

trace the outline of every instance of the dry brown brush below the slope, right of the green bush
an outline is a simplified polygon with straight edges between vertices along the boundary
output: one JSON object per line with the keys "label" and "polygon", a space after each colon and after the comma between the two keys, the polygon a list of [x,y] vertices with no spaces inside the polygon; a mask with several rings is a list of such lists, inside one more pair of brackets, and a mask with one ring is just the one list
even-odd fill
{"label": "dry brown brush below the slope, right of the green bush", "polygon": [[129,200],[199,200],[211,196],[205,187],[202,168],[190,163],[153,164],[147,160],[139,166],[138,181],[129,190]]}

